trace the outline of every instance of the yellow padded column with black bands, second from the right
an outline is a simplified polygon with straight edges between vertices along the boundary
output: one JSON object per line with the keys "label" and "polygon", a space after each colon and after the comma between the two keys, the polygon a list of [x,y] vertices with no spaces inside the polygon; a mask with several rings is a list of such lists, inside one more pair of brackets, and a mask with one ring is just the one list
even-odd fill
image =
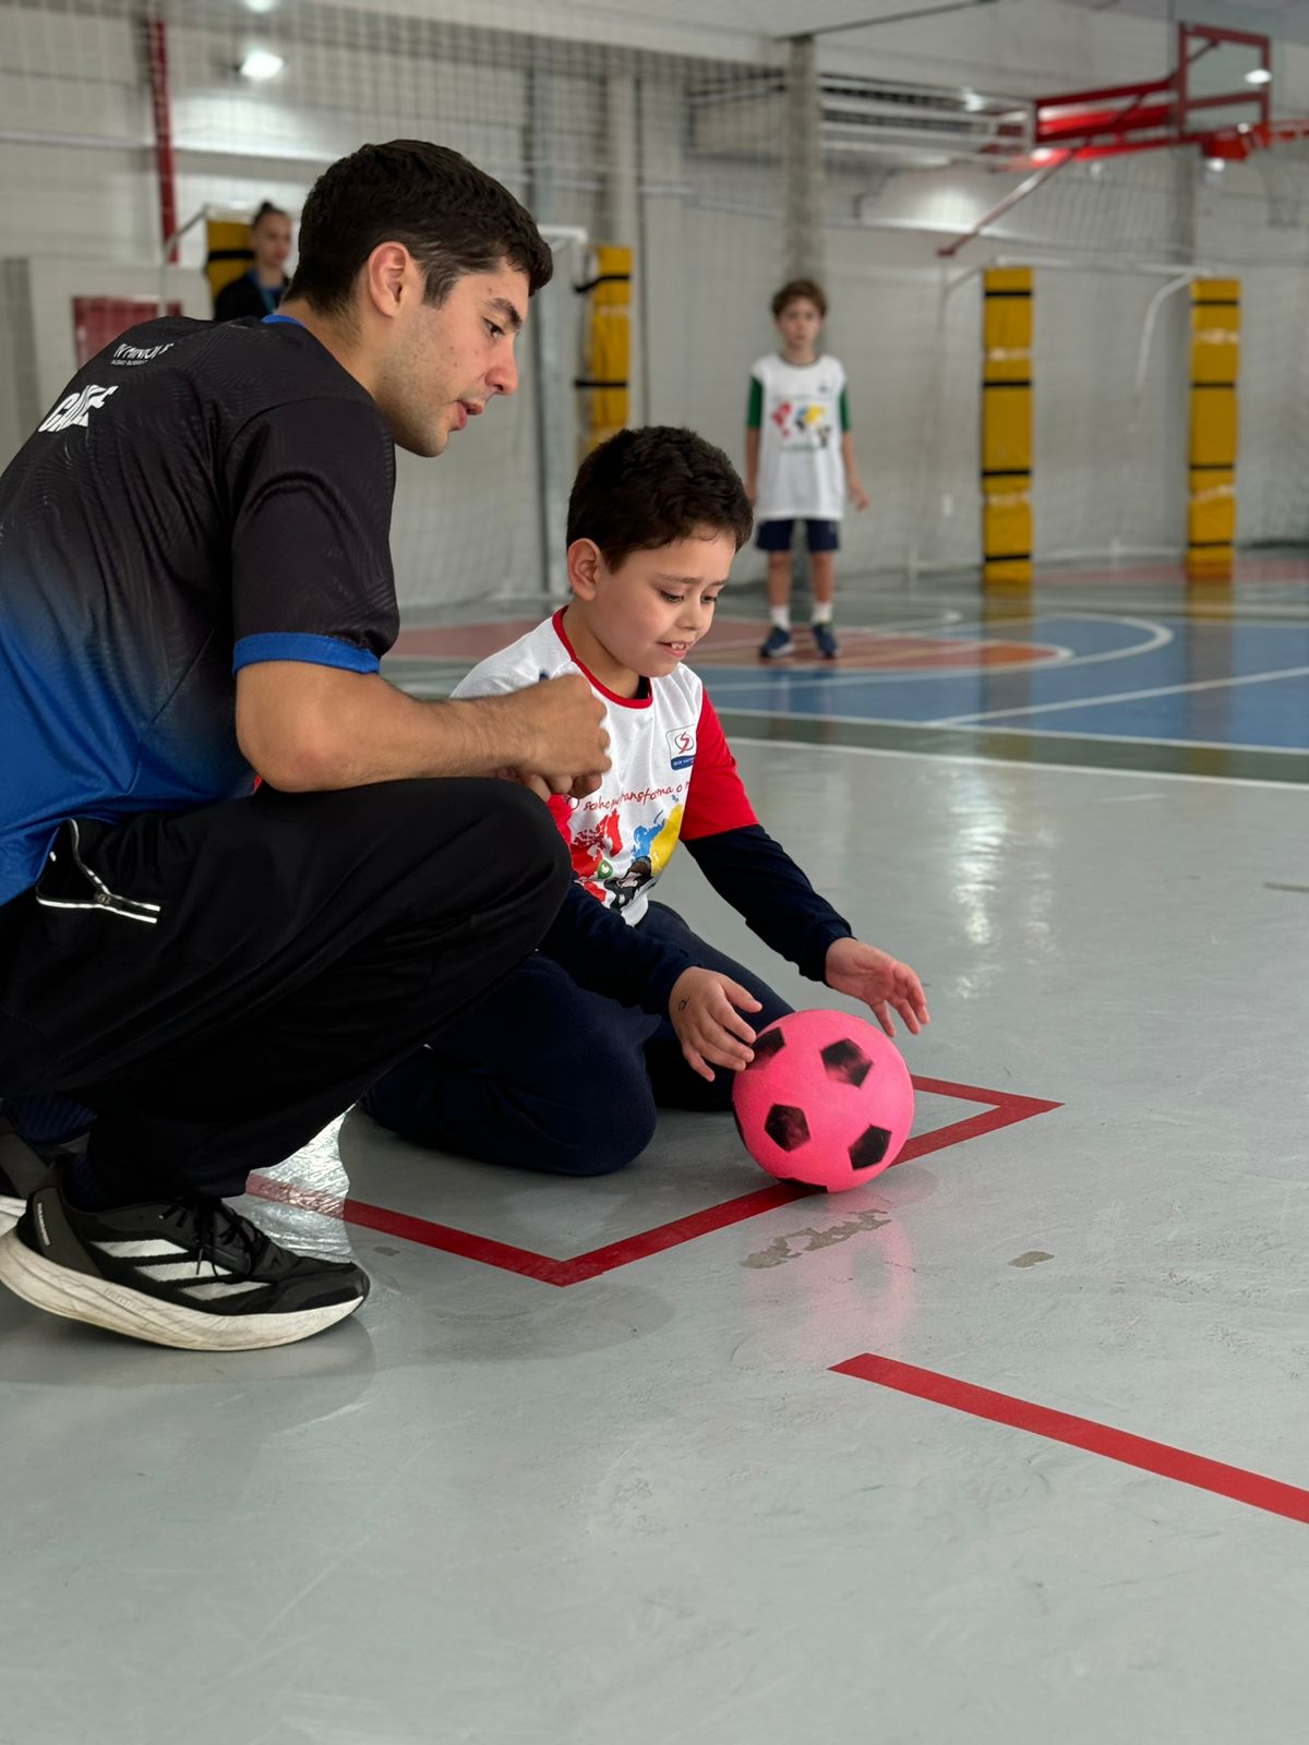
{"label": "yellow padded column with black bands, second from the right", "polygon": [[983,279],[983,583],[1031,583],[1031,267]]}

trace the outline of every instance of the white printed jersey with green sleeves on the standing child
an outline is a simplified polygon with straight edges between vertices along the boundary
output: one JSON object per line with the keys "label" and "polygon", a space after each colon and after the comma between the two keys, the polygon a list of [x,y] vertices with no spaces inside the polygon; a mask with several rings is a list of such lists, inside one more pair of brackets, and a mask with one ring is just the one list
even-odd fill
{"label": "white printed jersey with green sleeves on the standing child", "polygon": [[750,370],[749,422],[759,431],[757,518],[840,522],[841,435],[848,428],[840,359],[796,365],[775,352],[759,358]]}

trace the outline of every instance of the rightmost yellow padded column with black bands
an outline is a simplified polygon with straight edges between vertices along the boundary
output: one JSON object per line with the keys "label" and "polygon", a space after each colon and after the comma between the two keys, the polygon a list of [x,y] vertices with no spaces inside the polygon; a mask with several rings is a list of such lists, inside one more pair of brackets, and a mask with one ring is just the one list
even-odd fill
{"label": "rightmost yellow padded column with black bands", "polygon": [[1236,382],[1241,281],[1190,286],[1190,504],[1187,576],[1230,581],[1236,544]]}

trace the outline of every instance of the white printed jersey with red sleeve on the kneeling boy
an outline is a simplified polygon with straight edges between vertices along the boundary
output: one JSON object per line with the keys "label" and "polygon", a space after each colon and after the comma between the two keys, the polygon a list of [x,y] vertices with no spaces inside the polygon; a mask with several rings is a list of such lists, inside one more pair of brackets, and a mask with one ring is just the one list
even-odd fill
{"label": "white printed jersey with red sleeve on the kneeling boy", "polygon": [[586,890],[639,921],[681,838],[757,824],[737,761],[698,675],[682,665],[649,679],[646,696],[616,696],[586,672],[555,612],[476,665],[456,696],[520,691],[579,672],[606,705],[611,768],[586,799],[553,799],[572,871]]}

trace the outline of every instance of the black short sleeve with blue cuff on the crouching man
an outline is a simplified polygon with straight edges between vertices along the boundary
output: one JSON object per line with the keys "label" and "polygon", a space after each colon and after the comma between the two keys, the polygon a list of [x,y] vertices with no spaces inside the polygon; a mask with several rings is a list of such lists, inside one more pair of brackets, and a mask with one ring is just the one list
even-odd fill
{"label": "black short sleeve with blue cuff on the crouching man", "polygon": [[227,457],[232,670],[298,660],[377,672],[400,628],[394,452],[372,403],[300,400],[253,417]]}

